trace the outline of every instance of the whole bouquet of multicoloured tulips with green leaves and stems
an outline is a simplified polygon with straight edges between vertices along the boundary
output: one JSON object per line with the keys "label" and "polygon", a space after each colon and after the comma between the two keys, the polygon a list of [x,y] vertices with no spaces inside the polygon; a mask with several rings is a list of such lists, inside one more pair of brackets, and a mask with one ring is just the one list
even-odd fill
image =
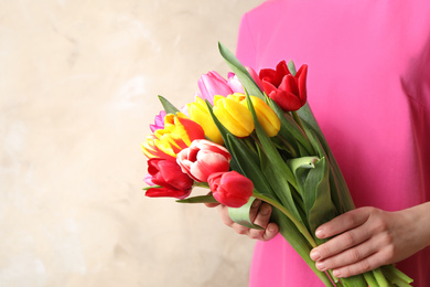
{"label": "whole bouquet of multicoloured tulips with green leaves and stems", "polygon": [[[412,279],[393,265],[342,279],[315,268],[310,252],[323,243],[316,227],[354,203],[307,103],[308,66],[295,71],[282,61],[257,75],[222,44],[219,52],[233,70],[228,79],[203,75],[201,93],[181,110],[160,97],[164,110],[142,144],[146,195],[218,202],[252,228],[261,228],[249,219],[260,199],[273,206],[271,220],[325,286],[410,286]],[[190,196],[193,187],[211,192]]]}

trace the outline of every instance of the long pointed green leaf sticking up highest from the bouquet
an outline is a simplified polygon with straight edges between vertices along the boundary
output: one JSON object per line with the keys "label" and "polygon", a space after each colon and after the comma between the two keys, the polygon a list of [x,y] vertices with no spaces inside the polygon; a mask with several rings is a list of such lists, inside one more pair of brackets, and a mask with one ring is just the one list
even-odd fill
{"label": "long pointed green leaf sticking up highest from the bouquet", "polygon": [[248,91],[248,93],[252,96],[265,99],[265,95],[261,89],[258,87],[254,78],[249,75],[246,67],[237,60],[237,57],[222,43],[218,42],[218,49],[221,55],[230,66],[232,71],[239,78],[241,85]]}

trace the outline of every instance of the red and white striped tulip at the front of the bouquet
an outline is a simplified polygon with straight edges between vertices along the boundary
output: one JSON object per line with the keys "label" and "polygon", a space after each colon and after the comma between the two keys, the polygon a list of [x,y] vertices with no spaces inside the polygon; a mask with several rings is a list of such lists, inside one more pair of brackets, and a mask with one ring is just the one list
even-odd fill
{"label": "red and white striped tulip at the front of the bouquet", "polygon": [[182,172],[198,182],[207,182],[212,173],[228,171],[230,160],[232,156],[226,148],[205,139],[194,140],[176,157]]}

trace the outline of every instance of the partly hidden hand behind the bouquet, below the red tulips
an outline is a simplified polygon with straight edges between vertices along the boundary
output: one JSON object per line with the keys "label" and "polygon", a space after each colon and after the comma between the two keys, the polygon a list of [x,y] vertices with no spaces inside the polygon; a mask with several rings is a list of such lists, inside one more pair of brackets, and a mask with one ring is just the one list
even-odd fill
{"label": "partly hidden hand behind the bouquet, below the red tulips", "polygon": [[228,215],[228,208],[222,204],[206,204],[209,208],[217,206],[221,217],[227,226],[232,227],[239,234],[245,234],[250,238],[260,240],[260,241],[269,241],[273,238],[278,232],[278,225],[276,223],[270,222],[271,206],[270,204],[262,202],[260,200],[255,200],[251,209],[249,211],[249,217],[252,223],[264,227],[265,230],[254,230],[241,226],[238,223],[232,221]]}

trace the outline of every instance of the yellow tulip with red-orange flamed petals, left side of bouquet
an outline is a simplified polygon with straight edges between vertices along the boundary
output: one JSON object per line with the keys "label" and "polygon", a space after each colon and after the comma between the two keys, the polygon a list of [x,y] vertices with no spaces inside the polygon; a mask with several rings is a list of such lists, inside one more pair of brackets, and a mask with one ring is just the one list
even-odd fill
{"label": "yellow tulip with red-orange flamed petals, left side of bouquet", "polygon": [[142,151],[148,158],[174,159],[194,139],[205,138],[203,128],[182,113],[164,117],[164,128],[147,137]]}

